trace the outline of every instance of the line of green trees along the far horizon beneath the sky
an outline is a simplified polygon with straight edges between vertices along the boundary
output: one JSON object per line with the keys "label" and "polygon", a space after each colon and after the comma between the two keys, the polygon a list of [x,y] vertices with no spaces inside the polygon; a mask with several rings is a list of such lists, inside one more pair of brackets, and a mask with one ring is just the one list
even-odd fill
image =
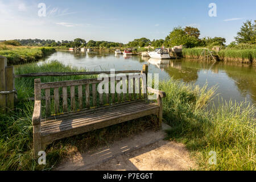
{"label": "line of green trees along the far horizon beneath the sky", "polygon": [[[116,42],[108,42],[108,41],[95,41],[86,40],[77,38],[75,40],[40,40],[40,39],[16,39],[15,42],[18,42],[22,46],[48,46],[48,47],[56,47],[56,46],[64,46],[64,47],[173,47],[184,45],[189,48],[192,47],[213,47],[213,46],[226,46],[226,39],[221,37],[200,37],[200,30],[195,27],[185,27],[181,26],[174,27],[169,35],[166,36],[165,39],[158,40],[150,40],[147,38],[134,39],[133,41],[123,44]],[[236,46],[238,44],[255,44],[256,43],[256,20],[252,22],[251,20],[246,20],[243,23],[239,32],[237,32],[237,36],[234,37],[235,41],[230,43],[229,46]],[[15,44],[14,42],[11,42]]]}

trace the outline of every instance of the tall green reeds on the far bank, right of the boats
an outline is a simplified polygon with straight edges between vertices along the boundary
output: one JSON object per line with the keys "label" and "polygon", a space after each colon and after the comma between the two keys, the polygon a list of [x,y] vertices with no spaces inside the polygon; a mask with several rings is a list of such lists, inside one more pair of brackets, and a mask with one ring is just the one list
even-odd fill
{"label": "tall green reeds on the far bank, right of the boats", "polygon": [[[203,51],[204,48],[185,48],[182,53],[186,59],[203,60]],[[213,51],[213,55],[224,62],[256,64],[256,49],[223,49],[220,52]]]}

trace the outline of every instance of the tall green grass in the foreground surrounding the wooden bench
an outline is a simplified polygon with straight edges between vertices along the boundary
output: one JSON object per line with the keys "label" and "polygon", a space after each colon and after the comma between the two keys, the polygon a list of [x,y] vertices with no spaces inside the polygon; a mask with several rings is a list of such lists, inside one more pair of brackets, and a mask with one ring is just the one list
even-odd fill
{"label": "tall green grass in the foreground surrounding the wooden bench", "polygon": [[[16,67],[15,73],[76,72],[84,71],[67,67],[57,61],[25,64]],[[73,80],[86,76],[44,77],[42,82]],[[0,170],[49,170],[61,159],[76,152],[88,150],[115,139],[130,136],[147,129],[154,129],[154,118],[138,119],[105,129],[91,131],[75,137],[53,142],[47,147],[47,164],[39,166],[32,154],[31,117],[34,78],[15,80],[19,102],[17,110],[0,115]],[[186,144],[199,169],[204,170],[255,170],[255,106],[226,103],[207,111],[216,88],[199,88],[179,81],[160,82],[164,90],[164,122],[172,126],[168,139]],[[209,151],[217,152],[217,165],[208,163]]]}

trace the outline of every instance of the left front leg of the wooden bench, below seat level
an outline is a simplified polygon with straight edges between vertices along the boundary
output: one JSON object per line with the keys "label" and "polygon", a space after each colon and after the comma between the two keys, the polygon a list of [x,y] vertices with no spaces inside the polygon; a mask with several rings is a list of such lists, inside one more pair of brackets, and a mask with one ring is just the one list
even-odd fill
{"label": "left front leg of the wooden bench, below seat level", "polygon": [[41,126],[33,126],[33,156],[36,158],[38,152],[42,151],[42,142],[41,142]]}

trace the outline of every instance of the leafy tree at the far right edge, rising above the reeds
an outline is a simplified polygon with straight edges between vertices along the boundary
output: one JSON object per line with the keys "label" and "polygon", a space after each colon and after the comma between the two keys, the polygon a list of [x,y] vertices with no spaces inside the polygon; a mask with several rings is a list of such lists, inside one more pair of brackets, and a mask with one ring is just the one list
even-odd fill
{"label": "leafy tree at the far right edge, rising above the reeds", "polygon": [[237,43],[256,43],[256,20],[254,23],[251,20],[246,20],[243,23],[240,31],[237,32],[237,36],[234,37]]}

